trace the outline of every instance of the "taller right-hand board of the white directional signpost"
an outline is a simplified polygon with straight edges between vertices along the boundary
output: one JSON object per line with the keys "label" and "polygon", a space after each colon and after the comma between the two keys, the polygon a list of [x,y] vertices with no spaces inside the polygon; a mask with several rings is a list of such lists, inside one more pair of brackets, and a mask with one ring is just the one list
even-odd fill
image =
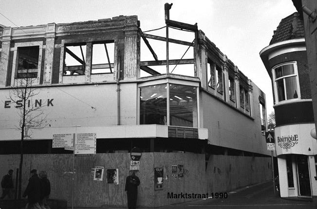
{"label": "taller right-hand board of the white directional signpost", "polygon": [[75,154],[96,154],[96,133],[77,134]]}

